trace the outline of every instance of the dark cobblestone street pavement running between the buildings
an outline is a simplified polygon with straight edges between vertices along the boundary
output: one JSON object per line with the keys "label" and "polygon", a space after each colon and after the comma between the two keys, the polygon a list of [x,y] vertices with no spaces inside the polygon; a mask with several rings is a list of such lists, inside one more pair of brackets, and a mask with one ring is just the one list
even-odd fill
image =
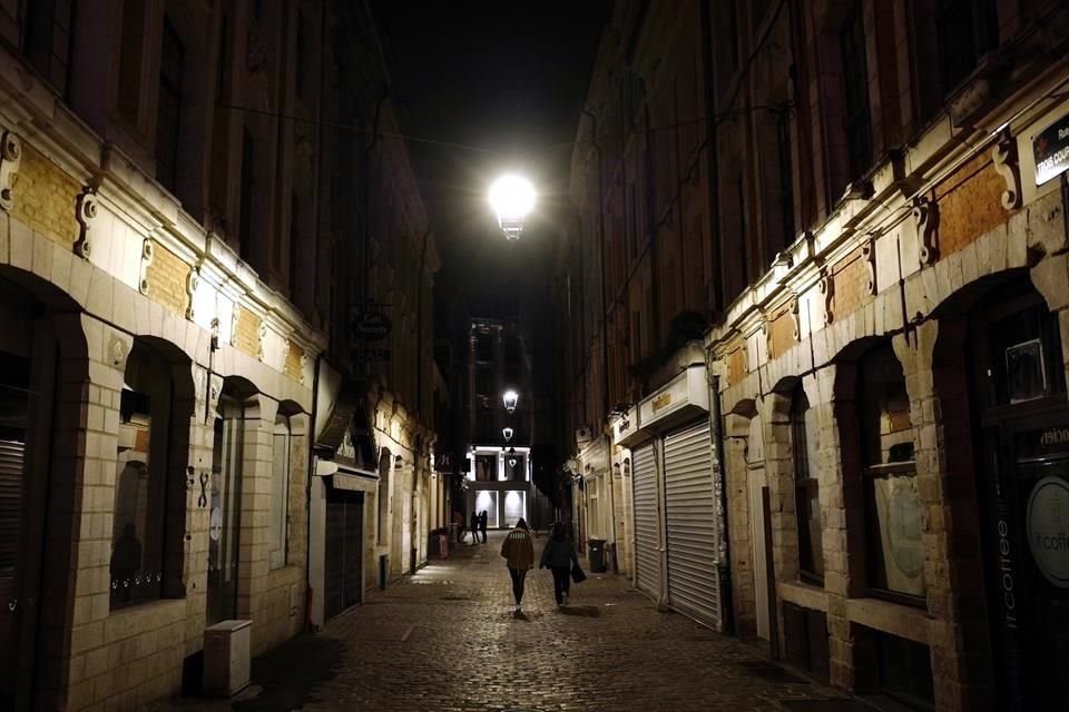
{"label": "dark cobblestone street pavement running between the buildings", "polygon": [[[536,541],[540,552],[543,537]],[[532,571],[513,619],[500,534],[433,562],[254,662],[238,711],[853,709],[837,693],[690,620],[659,613],[627,580],[591,574],[555,610]],[[227,702],[170,709],[223,711]],[[165,708],[166,709],[166,708]]]}

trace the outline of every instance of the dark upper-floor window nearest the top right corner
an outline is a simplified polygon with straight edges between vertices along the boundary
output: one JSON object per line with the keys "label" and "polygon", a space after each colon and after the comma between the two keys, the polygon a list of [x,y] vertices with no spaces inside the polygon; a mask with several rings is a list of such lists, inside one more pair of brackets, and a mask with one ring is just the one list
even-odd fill
{"label": "dark upper-floor window nearest the top right corner", "polygon": [[939,0],[935,11],[943,95],[953,92],[999,44],[996,0]]}

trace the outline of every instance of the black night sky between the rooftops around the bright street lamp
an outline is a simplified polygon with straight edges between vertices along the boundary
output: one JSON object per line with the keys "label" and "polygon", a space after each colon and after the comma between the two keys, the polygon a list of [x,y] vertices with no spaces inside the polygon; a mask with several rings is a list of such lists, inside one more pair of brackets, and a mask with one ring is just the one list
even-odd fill
{"label": "black night sky between the rooftops around the bright street lamp", "polygon": [[[440,291],[469,305],[545,304],[550,235],[567,202],[568,165],[610,0],[374,0],[403,130],[443,255]],[[538,215],[506,243],[486,202],[506,169],[527,175]],[[439,298],[445,297],[439,295]],[[514,308],[514,307],[512,307]],[[527,307],[529,309],[529,307]],[[538,319],[538,314],[529,314]]]}

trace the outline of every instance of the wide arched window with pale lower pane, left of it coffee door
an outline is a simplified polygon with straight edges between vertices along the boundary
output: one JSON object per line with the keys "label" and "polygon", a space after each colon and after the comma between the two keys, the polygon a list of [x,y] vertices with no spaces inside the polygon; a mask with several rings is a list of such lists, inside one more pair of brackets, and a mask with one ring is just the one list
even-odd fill
{"label": "wide arched window with pale lower pane, left of it coffee door", "polygon": [[902,365],[890,342],[859,364],[865,543],[875,595],[924,604],[921,501]]}

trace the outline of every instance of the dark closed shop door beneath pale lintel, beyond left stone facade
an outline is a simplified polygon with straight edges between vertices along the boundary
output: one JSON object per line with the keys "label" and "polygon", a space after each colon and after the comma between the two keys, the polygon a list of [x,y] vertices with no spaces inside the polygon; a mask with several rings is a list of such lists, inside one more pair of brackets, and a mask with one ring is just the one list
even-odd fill
{"label": "dark closed shop door beneath pale lintel, beyond left stone facade", "polygon": [[363,601],[363,493],[332,487],[326,495],[325,620]]}

